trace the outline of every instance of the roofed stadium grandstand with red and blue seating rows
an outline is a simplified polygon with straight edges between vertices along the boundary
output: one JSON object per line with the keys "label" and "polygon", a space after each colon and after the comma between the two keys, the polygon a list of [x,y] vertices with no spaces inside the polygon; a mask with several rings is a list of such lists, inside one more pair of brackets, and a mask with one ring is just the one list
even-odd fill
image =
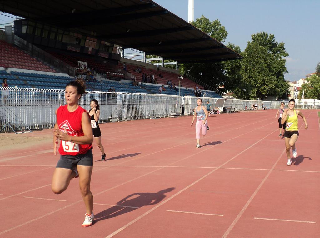
{"label": "roofed stadium grandstand with red and blue seating rows", "polygon": [[[111,87],[119,92],[130,92],[132,89],[132,92],[158,93],[151,79],[142,82],[142,75],[147,74],[148,78],[153,75],[159,86],[166,86],[170,80],[179,87],[179,72],[165,67],[157,69],[154,65],[122,58],[124,48],[135,48],[179,63],[241,58],[153,1],[93,1],[94,4],[83,1],[63,1],[63,4],[37,2],[3,1],[0,6],[4,12],[25,18],[14,21],[14,35],[7,32],[7,40],[0,42],[0,66],[10,69],[6,71],[18,80],[15,83],[15,79],[11,78],[11,85],[48,86],[45,84],[49,83],[46,79],[48,77],[41,75],[42,72],[52,72],[52,76],[66,73],[71,77],[81,75],[88,81],[90,79],[92,90],[108,90]],[[58,61],[66,66],[56,67]],[[79,74],[84,66],[87,71]],[[86,75],[89,72],[90,77]],[[140,89],[128,84],[133,78],[137,83],[143,83]],[[62,88],[60,83],[64,82],[52,83],[56,84],[49,84],[48,87]],[[182,95],[193,95],[195,86],[204,88],[199,82],[195,83],[186,77],[181,85],[184,92]],[[170,93],[175,94],[173,91]],[[219,96],[215,92],[209,95]]]}

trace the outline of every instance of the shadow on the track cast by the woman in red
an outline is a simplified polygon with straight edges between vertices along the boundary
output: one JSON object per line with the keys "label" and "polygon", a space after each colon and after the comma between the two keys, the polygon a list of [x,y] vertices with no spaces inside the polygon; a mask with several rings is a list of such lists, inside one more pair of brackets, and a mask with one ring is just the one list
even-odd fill
{"label": "shadow on the track cast by the woman in red", "polygon": [[104,219],[120,216],[144,206],[155,205],[166,197],[164,193],[169,193],[174,189],[175,187],[166,188],[157,193],[132,193],[118,201],[117,205],[95,214],[94,223]]}

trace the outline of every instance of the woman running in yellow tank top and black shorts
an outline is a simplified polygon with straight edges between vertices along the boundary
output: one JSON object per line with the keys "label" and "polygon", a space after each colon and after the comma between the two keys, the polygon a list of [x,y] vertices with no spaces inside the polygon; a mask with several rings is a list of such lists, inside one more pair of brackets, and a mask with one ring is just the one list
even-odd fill
{"label": "woman running in yellow tank top and black shorts", "polygon": [[285,142],[285,149],[287,152],[288,162],[287,165],[291,165],[291,154],[290,154],[290,147],[292,147],[292,154],[293,157],[297,157],[297,150],[295,143],[299,137],[299,131],[298,131],[298,115],[302,117],[304,121],[304,128],[308,129],[308,123],[306,117],[302,114],[299,110],[294,110],[294,106],[296,105],[296,102],[294,99],[291,99],[289,101],[289,108],[284,111],[281,119],[281,123],[286,123],[285,131],[284,131],[284,142]]}

